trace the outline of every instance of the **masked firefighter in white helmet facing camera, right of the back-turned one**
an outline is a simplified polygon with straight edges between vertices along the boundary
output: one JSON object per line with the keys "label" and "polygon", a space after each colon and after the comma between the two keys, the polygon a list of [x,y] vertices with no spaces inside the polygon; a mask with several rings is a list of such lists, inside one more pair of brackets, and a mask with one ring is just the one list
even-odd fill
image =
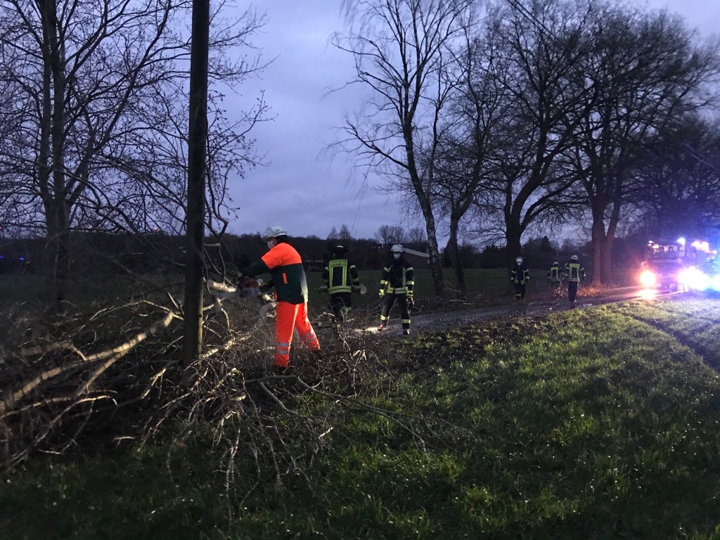
{"label": "masked firefighter in white helmet facing camera, right of the back-turned one", "polygon": [[382,269],[382,279],[380,280],[382,312],[377,329],[383,330],[387,326],[390,310],[397,300],[400,304],[402,333],[408,336],[410,334],[410,308],[413,307],[413,287],[415,286],[413,266],[408,259],[402,256],[405,249],[400,244],[392,246],[390,253],[392,253],[392,258]]}

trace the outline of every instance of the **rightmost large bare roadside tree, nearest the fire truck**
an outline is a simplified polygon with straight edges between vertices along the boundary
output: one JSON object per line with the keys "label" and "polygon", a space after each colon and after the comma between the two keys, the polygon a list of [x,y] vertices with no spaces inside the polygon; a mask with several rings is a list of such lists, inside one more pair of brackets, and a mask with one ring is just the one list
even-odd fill
{"label": "rightmost large bare roadside tree, nearest the fire truck", "polygon": [[593,55],[578,63],[576,81],[593,81],[582,122],[575,125],[575,172],[590,204],[593,284],[612,278],[612,247],[626,205],[631,171],[657,130],[707,103],[716,80],[716,50],[693,45],[680,19],[665,13],[598,10],[588,32]]}

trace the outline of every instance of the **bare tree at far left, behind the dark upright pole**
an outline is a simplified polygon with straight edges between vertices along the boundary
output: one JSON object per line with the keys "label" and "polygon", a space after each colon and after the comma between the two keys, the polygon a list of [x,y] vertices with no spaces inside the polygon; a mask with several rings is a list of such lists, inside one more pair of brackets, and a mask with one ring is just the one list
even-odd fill
{"label": "bare tree at far left, behind the dark upright pole", "polygon": [[[9,114],[19,118],[13,148],[3,148],[3,161],[17,167],[1,199],[22,204],[30,216],[18,226],[48,238],[60,308],[71,230],[152,230],[162,222],[184,228],[182,63],[189,59],[184,20],[190,5],[8,0],[1,6],[1,55],[14,60],[4,80],[17,89]],[[261,25],[252,12],[244,17],[239,25],[221,25],[217,17],[211,50],[240,45]],[[243,55],[230,63],[220,54],[210,74],[232,84],[257,67]],[[243,140],[237,128],[226,135],[211,149],[217,158],[211,168],[217,170],[235,143],[236,156],[248,156]],[[238,157],[223,166],[239,166]]]}

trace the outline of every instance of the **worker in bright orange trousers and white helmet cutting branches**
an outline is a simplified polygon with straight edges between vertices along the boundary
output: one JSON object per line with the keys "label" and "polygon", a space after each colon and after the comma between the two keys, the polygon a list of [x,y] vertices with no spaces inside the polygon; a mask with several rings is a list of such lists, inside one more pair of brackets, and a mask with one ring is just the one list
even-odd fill
{"label": "worker in bright orange trousers and white helmet cutting branches", "polygon": [[311,351],[320,351],[320,342],[307,318],[307,280],[300,253],[287,243],[287,233],[282,228],[269,227],[261,238],[267,242],[269,251],[243,269],[243,274],[271,276],[277,300],[275,365],[284,370],[289,366],[293,330],[297,329],[300,340]]}

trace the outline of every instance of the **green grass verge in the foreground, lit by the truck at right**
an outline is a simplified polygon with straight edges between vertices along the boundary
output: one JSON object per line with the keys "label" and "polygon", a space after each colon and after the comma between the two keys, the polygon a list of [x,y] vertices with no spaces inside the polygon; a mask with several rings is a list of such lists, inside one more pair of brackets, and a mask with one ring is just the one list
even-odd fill
{"label": "green grass verge in the foreground, lit by the truck at right", "polygon": [[631,302],[418,334],[355,405],[288,398],[335,414],[305,476],[238,455],[228,500],[212,433],[48,456],[4,476],[0,538],[717,540],[719,315]]}

